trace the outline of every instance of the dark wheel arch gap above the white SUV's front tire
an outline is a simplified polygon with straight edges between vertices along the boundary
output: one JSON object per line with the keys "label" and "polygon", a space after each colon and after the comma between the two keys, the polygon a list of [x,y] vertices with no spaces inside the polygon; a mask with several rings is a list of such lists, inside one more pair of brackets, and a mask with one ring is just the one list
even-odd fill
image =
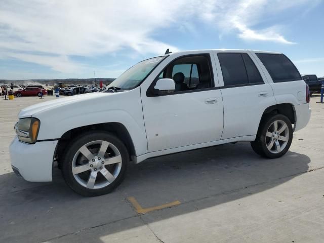
{"label": "dark wheel arch gap above the white SUV's front tire", "polygon": [[100,123],[100,124],[88,125],[88,126],[83,126],[83,127],[77,127],[77,128],[73,128],[73,129],[65,132],[61,136],[61,138],[59,138],[59,142],[57,144],[57,148],[56,148],[56,152],[55,152],[55,158],[58,161],[58,163],[59,163],[61,157],[63,156],[68,143],[76,136],[79,136],[80,134],[89,132],[91,130],[105,131],[105,132],[109,132],[109,133],[115,135],[127,147],[129,155],[130,155],[130,159],[133,160],[134,157],[136,157],[136,150],[135,150],[134,142],[133,142],[132,137],[131,137],[129,131],[127,130],[127,128],[121,123],[110,122],[110,123]]}

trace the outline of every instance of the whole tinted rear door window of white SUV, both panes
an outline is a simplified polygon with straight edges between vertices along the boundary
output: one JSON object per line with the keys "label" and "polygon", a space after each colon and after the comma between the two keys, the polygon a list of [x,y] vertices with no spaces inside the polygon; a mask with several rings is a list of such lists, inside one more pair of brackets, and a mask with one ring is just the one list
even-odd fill
{"label": "whole tinted rear door window of white SUV, both panes", "polygon": [[240,86],[262,83],[262,77],[246,53],[217,54],[224,80],[224,86]]}

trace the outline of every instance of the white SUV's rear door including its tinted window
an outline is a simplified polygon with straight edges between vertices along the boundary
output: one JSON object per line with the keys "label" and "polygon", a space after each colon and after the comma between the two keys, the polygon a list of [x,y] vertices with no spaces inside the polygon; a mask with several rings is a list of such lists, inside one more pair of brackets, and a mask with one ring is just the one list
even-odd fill
{"label": "white SUV's rear door including its tinted window", "polygon": [[224,104],[221,139],[256,135],[264,110],[276,103],[258,63],[247,52],[215,51]]}

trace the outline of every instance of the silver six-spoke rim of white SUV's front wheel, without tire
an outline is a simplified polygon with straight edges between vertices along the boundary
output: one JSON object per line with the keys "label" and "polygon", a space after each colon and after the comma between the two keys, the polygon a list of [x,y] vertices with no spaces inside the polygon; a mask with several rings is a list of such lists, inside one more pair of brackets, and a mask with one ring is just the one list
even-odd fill
{"label": "silver six-spoke rim of white SUV's front wheel, without tire", "polygon": [[103,188],[112,183],[121,169],[119,150],[107,141],[92,141],[74,154],[72,173],[74,179],[89,189]]}

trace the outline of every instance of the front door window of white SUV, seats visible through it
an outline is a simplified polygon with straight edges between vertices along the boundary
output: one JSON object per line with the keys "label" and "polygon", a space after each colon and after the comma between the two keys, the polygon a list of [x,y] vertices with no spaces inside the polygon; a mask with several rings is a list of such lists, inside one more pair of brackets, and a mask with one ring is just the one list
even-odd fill
{"label": "front door window of white SUV, seats visible through it", "polygon": [[158,79],[172,78],[175,82],[175,92],[185,92],[197,89],[208,89],[213,85],[211,61],[208,54],[184,56],[171,62],[157,76]]}

